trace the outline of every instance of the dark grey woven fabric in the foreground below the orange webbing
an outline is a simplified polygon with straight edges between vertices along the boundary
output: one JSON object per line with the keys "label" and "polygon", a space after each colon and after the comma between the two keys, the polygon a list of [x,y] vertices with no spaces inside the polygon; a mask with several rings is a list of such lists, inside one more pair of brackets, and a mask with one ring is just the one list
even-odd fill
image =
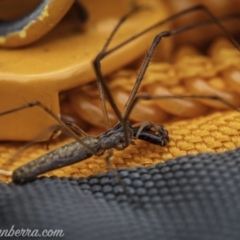
{"label": "dark grey woven fabric in the foreground below the orange webbing", "polygon": [[118,173],[125,190],[110,172],[2,183],[0,229],[62,229],[52,239],[71,240],[240,239],[240,149]]}

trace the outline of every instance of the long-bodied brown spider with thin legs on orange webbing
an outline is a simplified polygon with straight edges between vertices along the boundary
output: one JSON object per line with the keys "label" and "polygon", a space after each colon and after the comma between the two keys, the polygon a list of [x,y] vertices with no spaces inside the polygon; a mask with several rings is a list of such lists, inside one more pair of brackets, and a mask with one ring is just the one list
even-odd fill
{"label": "long-bodied brown spider with thin legs on orange webbing", "polygon": [[[237,42],[231,37],[231,35],[227,32],[227,30],[222,26],[220,21],[204,6],[198,5],[195,7],[191,7],[189,9],[186,9],[178,14],[172,15],[171,17],[165,19],[164,21],[161,21],[153,26],[151,26],[148,29],[145,29],[141,33],[129,38],[127,41],[119,44],[118,46],[110,49],[107,51],[107,47],[110,44],[112,38],[114,37],[115,33],[117,32],[118,28],[121,26],[121,24],[128,19],[128,17],[132,14],[134,14],[136,11],[142,10],[141,7],[135,7],[133,8],[129,13],[127,13],[125,16],[123,16],[117,26],[113,29],[111,35],[107,39],[105,45],[103,46],[101,52],[95,57],[93,60],[93,67],[97,78],[99,93],[100,93],[100,100],[102,104],[102,110],[103,110],[103,116],[106,123],[107,131],[103,132],[97,137],[94,136],[87,136],[83,131],[81,131],[79,128],[77,129],[82,134],[86,135],[83,138],[78,137],[74,131],[71,130],[71,127],[66,125],[58,116],[56,116],[49,108],[47,108],[44,104],[42,104],[39,101],[32,101],[28,102],[27,104],[24,104],[20,107],[16,107],[14,109],[10,109],[4,112],[0,113],[0,116],[13,113],[15,111],[20,111],[25,108],[29,107],[35,107],[38,106],[42,108],[45,112],[47,112],[49,115],[51,115],[60,125],[63,132],[67,133],[70,137],[74,138],[75,141],[71,142],[69,144],[66,144],[56,150],[53,150],[19,168],[13,171],[13,173],[10,173],[12,175],[12,180],[16,183],[24,183],[31,181],[35,179],[39,174],[45,173],[47,171],[61,168],[63,166],[67,166],[76,162],[83,161],[92,155],[101,156],[103,153],[107,150],[108,154],[106,156],[106,162],[111,167],[111,157],[113,155],[113,149],[117,150],[123,150],[127,148],[129,145],[135,144],[134,139],[141,139],[143,141],[149,142],[151,144],[155,144],[161,147],[164,147],[169,141],[168,131],[164,129],[163,126],[157,125],[150,121],[145,121],[142,123],[138,123],[135,125],[132,125],[130,123],[129,115],[131,114],[134,106],[136,103],[141,100],[151,100],[151,99],[171,99],[171,98],[202,98],[202,99],[212,99],[216,101],[221,101],[223,104],[229,106],[230,108],[239,111],[237,107],[235,107],[233,104],[227,102],[226,100],[218,97],[218,96],[206,96],[206,95],[174,95],[174,96],[151,96],[148,94],[137,94],[138,88],[141,84],[141,81],[143,80],[144,74],[147,71],[148,65],[150,63],[150,60],[152,58],[152,55],[161,41],[164,37],[170,37],[172,35],[190,30],[192,28],[195,28],[196,26],[201,26],[208,23],[215,23],[223,30],[223,32],[226,34],[226,36],[229,38],[229,40],[239,49],[239,46]],[[135,84],[133,86],[132,92],[128,98],[128,101],[126,102],[125,108],[122,111],[122,113],[119,111],[118,107],[116,106],[116,103],[113,99],[112,93],[110,92],[107,84],[104,81],[104,77],[101,73],[101,60],[106,57],[107,55],[111,54],[113,51],[117,50],[124,44],[127,44],[128,42],[134,40],[138,36],[146,33],[147,31],[165,23],[168,21],[171,21],[173,19],[177,19],[178,17],[188,14],[189,12],[193,11],[204,11],[206,12],[211,19],[208,21],[200,22],[197,24],[190,24],[188,26],[170,30],[170,31],[164,31],[159,33],[153,40],[146,56],[143,61],[143,64],[139,70],[137,79],[135,81]],[[109,119],[108,119],[108,113],[106,110],[105,105],[105,95],[115,112],[119,122],[113,127],[110,128]],[[75,127],[73,125],[73,127]],[[6,173],[2,171],[1,173]]]}

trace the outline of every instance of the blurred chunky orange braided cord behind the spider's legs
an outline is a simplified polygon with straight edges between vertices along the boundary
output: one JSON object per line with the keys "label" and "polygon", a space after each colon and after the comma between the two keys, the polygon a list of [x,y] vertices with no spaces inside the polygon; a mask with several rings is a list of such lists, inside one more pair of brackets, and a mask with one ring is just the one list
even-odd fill
{"label": "blurred chunky orange braided cord behind the spider's legs", "polygon": [[[173,54],[173,63],[151,62],[139,88],[140,93],[152,96],[166,95],[217,95],[240,107],[240,52],[228,39],[214,41],[210,54],[200,54],[191,45],[182,46]],[[125,68],[107,78],[108,87],[120,110],[136,82],[137,69]],[[71,108],[79,118],[91,125],[103,127],[104,121],[96,84],[88,84],[68,92]],[[69,104],[69,105],[70,105]],[[117,117],[107,104],[111,125]],[[153,121],[165,124],[176,118],[194,118],[209,112],[229,109],[212,99],[161,99],[139,101],[129,116],[131,122]]]}

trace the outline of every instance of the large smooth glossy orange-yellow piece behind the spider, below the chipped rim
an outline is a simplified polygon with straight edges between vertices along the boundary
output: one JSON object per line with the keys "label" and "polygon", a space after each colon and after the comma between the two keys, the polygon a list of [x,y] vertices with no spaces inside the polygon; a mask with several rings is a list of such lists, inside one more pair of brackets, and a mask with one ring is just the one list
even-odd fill
{"label": "large smooth glossy orange-yellow piece behind the spider, below the chipped rim", "polygon": [[[38,100],[55,114],[58,94],[95,79],[92,59],[100,51],[119,18],[131,9],[130,0],[83,0],[89,12],[86,30],[68,14],[46,36],[19,49],[0,49],[0,112]],[[117,33],[111,47],[151,26],[168,14],[158,0],[138,1],[147,6],[131,17]],[[166,27],[166,26],[165,26]],[[102,71],[110,73],[145,53],[159,29],[145,34],[103,61]],[[0,117],[0,140],[31,140],[56,122],[38,107]]]}

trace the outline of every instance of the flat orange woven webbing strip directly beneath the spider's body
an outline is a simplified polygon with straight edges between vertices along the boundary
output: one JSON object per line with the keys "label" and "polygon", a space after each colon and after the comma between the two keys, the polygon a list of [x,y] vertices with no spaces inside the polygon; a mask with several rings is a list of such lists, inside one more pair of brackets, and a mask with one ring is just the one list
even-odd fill
{"label": "flat orange woven webbing strip directly beneath the spider's body", "polygon": [[[229,61],[229,58],[226,61]],[[221,62],[221,66],[223,65],[224,63]],[[170,137],[170,142],[166,147],[136,140],[136,145],[131,145],[123,151],[114,150],[114,156],[111,159],[112,165],[115,168],[149,166],[169,158],[184,156],[190,153],[224,152],[240,146],[240,113],[234,110],[217,110],[202,117],[172,120],[171,123],[164,123],[164,127],[168,130]],[[50,150],[70,141],[72,140],[66,138],[55,140],[50,144]],[[47,152],[44,143],[35,144],[19,155],[15,161],[10,162],[9,158],[21,146],[23,146],[23,143],[1,143],[0,169],[14,170]],[[105,156],[106,154],[102,157],[94,156],[80,163],[54,170],[44,175],[87,177],[92,174],[106,172],[108,167],[105,162]],[[0,181],[9,182],[10,180],[10,177],[0,175]]]}

